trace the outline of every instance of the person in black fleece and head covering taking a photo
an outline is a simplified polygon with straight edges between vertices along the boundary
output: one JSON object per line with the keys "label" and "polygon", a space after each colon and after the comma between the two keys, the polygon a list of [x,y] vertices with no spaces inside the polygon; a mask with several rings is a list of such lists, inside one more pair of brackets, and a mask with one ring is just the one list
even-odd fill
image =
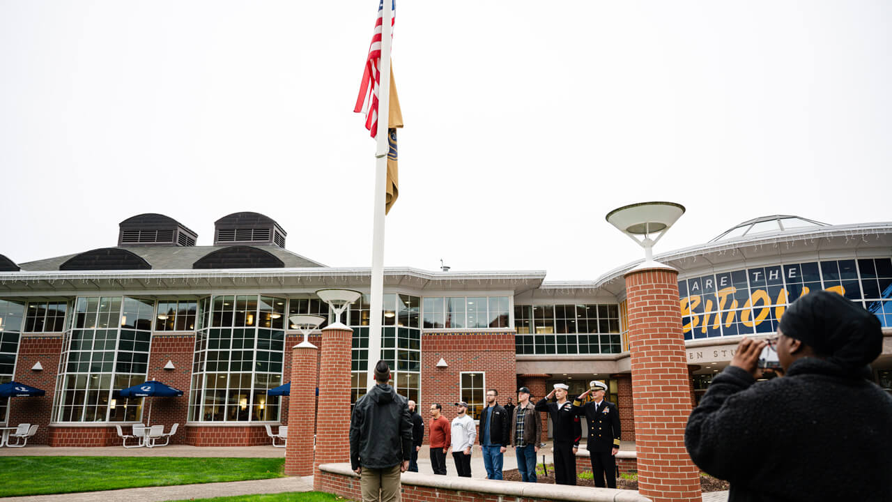
{"label": "person in black fleece and head covering taking a photo", "polygon": [[[892,397],[870,378],[880,322],[836,293],[800,297],[777,338],[744,338],[690,414],[685,446],[741,500],[892,501]],[[784,376],[756,379],[764,347]]]}

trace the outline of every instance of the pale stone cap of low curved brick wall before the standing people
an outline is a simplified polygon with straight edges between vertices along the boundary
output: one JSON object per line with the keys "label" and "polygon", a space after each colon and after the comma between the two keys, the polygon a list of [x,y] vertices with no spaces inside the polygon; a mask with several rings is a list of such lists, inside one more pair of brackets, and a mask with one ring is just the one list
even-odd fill
{"label": "pale stone cap of low curved brick wall before the standing people", "polygon": [[[359,478],[350,464],[319,464],[319,471],[351,478]],[[434,489],[493,493],[516,498],[541,498],[545,500],[578,500],[581,502],[650,502],[638,491],[631,489],[591,488],[553,484],[524,483],[522,481],[495,481],[475,478],[438,476],[435,474],[402,473],[404,485]]]}

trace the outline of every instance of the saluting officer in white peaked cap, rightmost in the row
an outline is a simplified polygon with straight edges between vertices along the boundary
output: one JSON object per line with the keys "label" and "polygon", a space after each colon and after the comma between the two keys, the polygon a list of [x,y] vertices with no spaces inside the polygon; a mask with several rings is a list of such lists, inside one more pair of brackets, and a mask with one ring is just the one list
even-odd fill
{"label": "saluting officer in white peaked cap, rightmost in the row", "polygon": [[[616,452],[619,451],[619,410],[616,405],[604,399],[607,384],[603,381],[591,381],[591,389],[582,393],[573,403],[576,414],[584,415],[589,424],[589,449],[591,473],[595,486],[604,488],[607,477],[607,488],[616,488]],[[582,400],[591,393],[592,400],[582,404]]]}

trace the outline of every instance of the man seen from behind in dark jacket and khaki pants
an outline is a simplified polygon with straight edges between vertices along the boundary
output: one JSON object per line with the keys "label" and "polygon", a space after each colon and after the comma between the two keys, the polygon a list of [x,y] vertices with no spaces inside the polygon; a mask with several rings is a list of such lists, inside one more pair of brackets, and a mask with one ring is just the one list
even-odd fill
{"label": "man seen from behind in dark jacket and khaki pants", "polygon": [[398,502],[400,473],[409,469],[409,404],[387,381],[390,367],[375,365],[376,386],[359,398],[350,419],[350,464],[359,474],[363,502]]}

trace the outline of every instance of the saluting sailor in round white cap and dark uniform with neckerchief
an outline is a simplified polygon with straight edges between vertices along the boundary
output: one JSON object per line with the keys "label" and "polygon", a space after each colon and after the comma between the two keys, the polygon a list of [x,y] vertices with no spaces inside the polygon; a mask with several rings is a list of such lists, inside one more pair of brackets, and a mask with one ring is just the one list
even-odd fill
{"label": "saluting sailor in round white cap and dark uniform with neckerchief", "polygon": [[[555,482],[557,484],[576,484],[576,450],[582,427],[579,417],[574,412],[573,404],[566,400],[569,387],[556,383],[554,390],[536,403],[536,411],[549,412],[553,425],[555,459]],[[557,396],[557,403],[549,403],[551,396]]]}

